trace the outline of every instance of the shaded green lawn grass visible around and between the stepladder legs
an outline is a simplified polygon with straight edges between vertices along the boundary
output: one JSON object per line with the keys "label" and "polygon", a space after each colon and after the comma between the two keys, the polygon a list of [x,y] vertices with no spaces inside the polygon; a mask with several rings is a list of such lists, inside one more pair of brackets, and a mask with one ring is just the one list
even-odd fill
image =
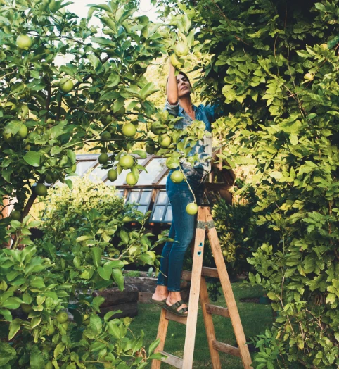
{"label": "shaded green lawn grass visible around and between the stepladder legs", "polygon": [[[232,284],[234,296],[238,306],[238,311],[241,316],[241,322],[245,331],[246,339],[264,332],[265,328],[271,327],[272,313],[270,305],[254,304],[249,302],[240,302],[239,299],[245,297],[262,296],[262,289],[260,286],[251,287],[242,282]],[[224,297],[219,296],[216,302],[212,304],[218,306],[226,306]],[[131,324],[131,329],[134,334],[139,334],[140,330],[145,332],[144,346],[148,346],[155,340],[158,332],[158,323],[160,318],[160,308],[153,304],[139,304],[139,315]],[[222,318],[220,316],[213,316],[215,324],[215,332],[217,340],[226,344],[236,346],[236,338],[231,325],[231,320]],[[176,322],[169,321],[167,330],[167,339],[165,342],[165,351],[182,358],[184,350],[186,326]],[[253,356],[253,354],[251,354]],[[222,361],[222,368],[241,369],[241,359],[235,356],[227,355],[220,352],[220,360]],[[147,368],[150,368],[148,365]],[[171,365],[162,363],[161,368],[173,368]],[[212,368],[210,363],[210,351],[207,346],[207,339],[205,334],[205,326],[203,324],[203,315],[201,309],[198,312],[198,322],[196,329],[196,345],[194,351],[193,368]]]}

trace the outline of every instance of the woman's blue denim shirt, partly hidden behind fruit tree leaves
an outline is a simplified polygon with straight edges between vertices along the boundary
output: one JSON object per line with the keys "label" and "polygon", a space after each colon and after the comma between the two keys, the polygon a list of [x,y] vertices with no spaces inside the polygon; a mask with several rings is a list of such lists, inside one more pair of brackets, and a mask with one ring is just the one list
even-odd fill
{"label": "woman's blue denim shirt, partly hidden behind fruit tree leaves", "polygon": [[[179,105],[179,101],[177,105],[171,105],[168,101],[165,104],[165,110],[168,111],[169,114],[174,115],[174,117],[182,117],[177,123],[175,123],[174,127],[177,130],[183,130],[188,125],[191,125],[193,119],[184,111],[184,108],[181,108]],[[201,120],[205,123],[206,131],[212,132],[211,123],[215,122],[217,118],[219,118],[219,114],[217,114],[216,105],[203,105],[199,106],[193,105],[193,111],[196,115],[196,120]],[[194,145],[188,154],[188,156],[193,156],[198,154],[199,161],[194,163],[194,168],[202,169],[205,173],[210,173],[211,163],[210,158],[212,156],[212,135],[207,134],[203,139],[200,139],[196,145]],[[191,165],[190,163],[184,161],[184,163]]]}

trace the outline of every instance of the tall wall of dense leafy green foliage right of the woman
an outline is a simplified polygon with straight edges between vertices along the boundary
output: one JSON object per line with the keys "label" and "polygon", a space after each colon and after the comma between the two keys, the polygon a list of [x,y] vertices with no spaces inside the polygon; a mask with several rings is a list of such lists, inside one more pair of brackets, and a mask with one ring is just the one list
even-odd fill
{"label": "tall wall of dense leafy green foliage right of the woman", "polygon": [[[232,167],[253,165],[257,226],[248,258],[279,315],[257,368],[339,364],[338,1],[186,1],[212,53],[203,96]],[[194,6],[191,8],[191,6]],[[245,190],[245,189],[244,189]],[[278,240],[278,242],[277,242]]]}

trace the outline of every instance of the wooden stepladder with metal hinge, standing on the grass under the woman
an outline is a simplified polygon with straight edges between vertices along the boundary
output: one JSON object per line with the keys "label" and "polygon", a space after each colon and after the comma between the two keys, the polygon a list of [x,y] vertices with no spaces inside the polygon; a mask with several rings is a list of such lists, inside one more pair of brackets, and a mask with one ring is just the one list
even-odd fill
{"label": "wooden stepladder with metal hinge, standing on the grass under the woman", "polygon": [[[215,258],[215,264],[217,265],[216,269],[203,267],[203,250],[206,230],[212,248],[212,254]],[[224,292],[227,308],[210,304],[207,294],[207,284],[205,282],[206,276],[219,278],[222,284],[222,291]],[[198,303],[200,298],[200,305],[203,311],[212,367],[214,369],[222,368],[219,358],[219,351],[222,351],[226,352],[227,354],[240,357],[243,361],[243,367],[245,369],[250,369],[250,364],[252,363],[250,352],[248,351],[248,346],[245,344],[246,339],[243,332],[243,326],[241,325],[238,308],[236,307],[236,300],[234,299],[231,282],[229,280],[229,275],[224,262],[224,256],[222,255],[217,231],[215,230],[215,225],[209,207],[199,206],[196,239],[194,242],[193,251],[193,267],[191,272],[183,272],[182,278],[184,280],[191,280],[188,315],[187,318],[180,317],[172,314],[165,308],[162,308],[157,336],[157,339],[160,338],[160,344],[155,350],[156,352],[160,352],[167,356],[167,358],[163,359],[162,361],[174,366],[175,368],[193,368],[193,353],[196,337],[196,323],[198,318]],[[223,342],[217,341],[215,337],[215,327],[213,325],[212,314],[221,315],[225,318],[231,319],[238,347],[230,346],[229,344],[224,344]],[[163,351],[169,320],[174,320],[178,323],[186,325],[184,358],[182,359]],[[153,360],[151,368],[159,369],[162,361]]]}

